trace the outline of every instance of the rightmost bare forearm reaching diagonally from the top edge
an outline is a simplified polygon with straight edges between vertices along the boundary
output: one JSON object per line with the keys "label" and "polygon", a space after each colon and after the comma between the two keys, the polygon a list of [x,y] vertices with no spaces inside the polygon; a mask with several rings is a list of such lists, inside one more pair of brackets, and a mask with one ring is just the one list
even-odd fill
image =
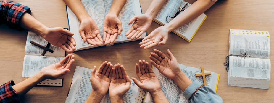
{"label": "rightmost bare forearm reaching diagonally from the top edge", "polygon": [[215,2],[211,0],[198,0],[189,6],[186,10],[182,11],[177,17],[175,17],[165,26],[168,28],[169,32],[171,32],[179,26],[182,26],[201,15],[214,3]]}

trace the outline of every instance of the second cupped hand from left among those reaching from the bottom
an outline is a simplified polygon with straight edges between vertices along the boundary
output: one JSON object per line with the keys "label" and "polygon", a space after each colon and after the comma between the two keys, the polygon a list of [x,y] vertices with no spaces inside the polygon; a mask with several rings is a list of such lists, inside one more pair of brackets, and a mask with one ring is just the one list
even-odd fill
{"label": "second cupped hand from left among those reaching from the bottom", "polygon": [[130,89],[131,80],[125,71],[124,66],[114,65],[112,69],[112,80],[109,86],[110,98],[121,98]]}

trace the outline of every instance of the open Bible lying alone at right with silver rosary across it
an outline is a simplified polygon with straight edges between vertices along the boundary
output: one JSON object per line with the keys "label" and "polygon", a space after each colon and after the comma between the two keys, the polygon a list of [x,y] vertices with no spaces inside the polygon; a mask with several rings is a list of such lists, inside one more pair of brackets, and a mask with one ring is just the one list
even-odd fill
{"label": "open Bible lying alone at right with silver rosary across it", "polygon": [[268,31],[230,29],[228,85],[269,89],[269,57]]}

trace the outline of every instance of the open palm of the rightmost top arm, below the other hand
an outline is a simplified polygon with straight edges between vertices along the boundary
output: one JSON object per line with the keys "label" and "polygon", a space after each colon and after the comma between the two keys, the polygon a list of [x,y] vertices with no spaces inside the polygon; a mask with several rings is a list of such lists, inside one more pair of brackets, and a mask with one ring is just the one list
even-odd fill
{"label": "open palm of the rightmost top arm, below the other hand", "polygon": [[149,49],[157,45],[165,45],[167,36],[168,29],[165,26],[158,27],[142,40],[140,47]]}

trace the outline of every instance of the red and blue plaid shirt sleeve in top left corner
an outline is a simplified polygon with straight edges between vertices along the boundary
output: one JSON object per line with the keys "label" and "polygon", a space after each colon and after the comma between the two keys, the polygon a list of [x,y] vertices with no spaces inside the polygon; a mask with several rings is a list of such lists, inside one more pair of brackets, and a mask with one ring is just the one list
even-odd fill
{"label": "red and blue plaid shirt sleeve in top left corner", "polygon": [[7,24],[10,28],[21,29],[19,21],[24,13],[30,13],[30,8],[13,1],[0,2],[0,24]]}

